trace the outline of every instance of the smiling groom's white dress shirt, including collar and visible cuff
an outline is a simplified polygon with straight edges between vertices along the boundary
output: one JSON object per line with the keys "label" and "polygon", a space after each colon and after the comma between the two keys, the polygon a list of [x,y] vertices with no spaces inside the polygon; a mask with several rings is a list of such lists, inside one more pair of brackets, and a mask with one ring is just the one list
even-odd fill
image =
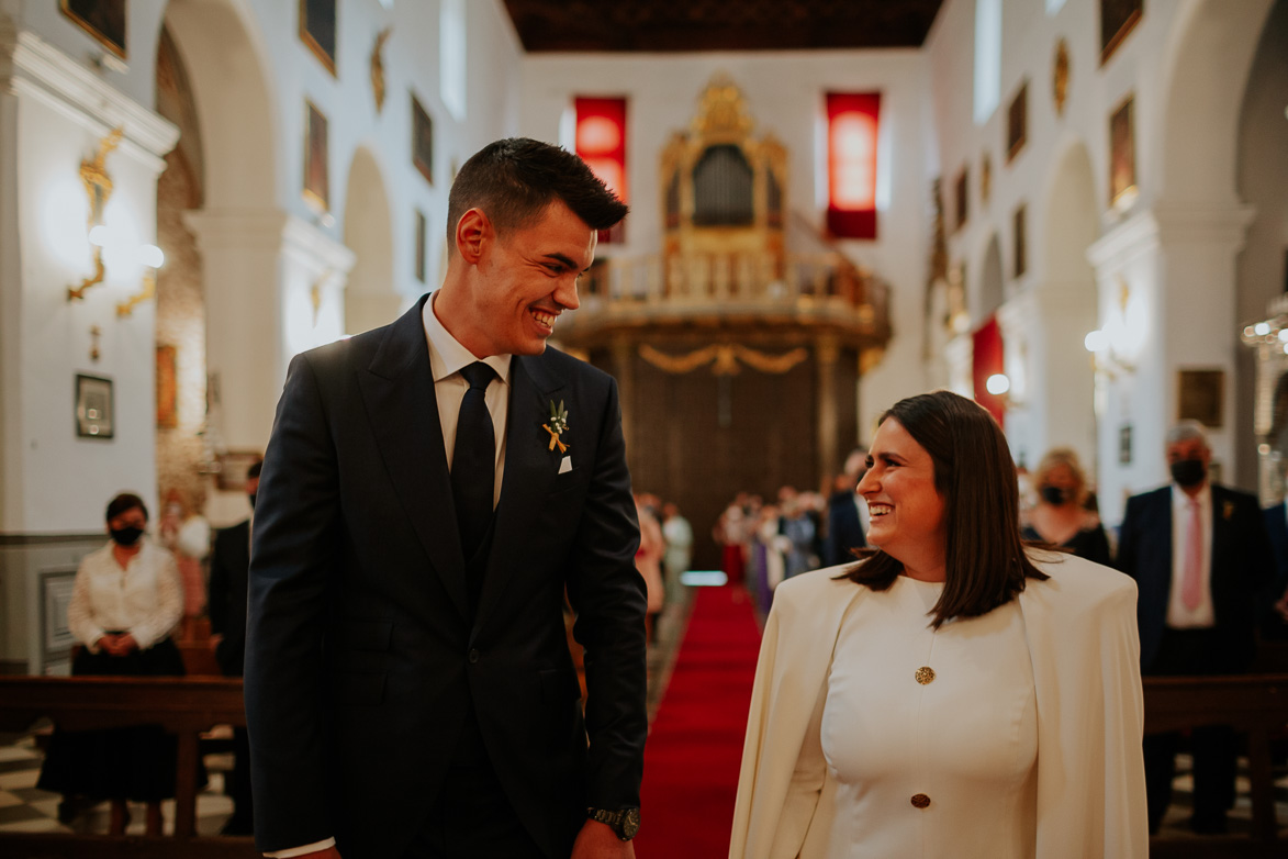
{"label": "smiling groom's white dress shirt, including collar and visible cuff", "polygon": [[[462,367],[469,367],[475,361],[482,361],[496,371],[496,382],[487,386],[483,402],[492,416],[492,433],[496,439],[496,480],[492,484],[492,506],[496,507],[501,498],[501,478],[505,475],[505,435],[506,420],[510,413],[510,358],[511,355],[489,355],[477,358],[474,353],[462,346],[460,341],[443,327],[434,313],[434,299],[438,292],[433,292],[421,312],[421,321],[425,326],[425,344],[429,346],[429,368],[434,373],[434,399],[438,401],[438,422],[443,428],[443,447],[447,453],[447,467],[452,467],[452,455],[456,451],[456,420],[461,413],[461,401],[470,384],[461,375]],[[303,856],[317,850],[326,850],[335,846],[335,838],[318,841],[317,844],[291,847],[276,853],[265,853],[273,859],[291,859]]]}

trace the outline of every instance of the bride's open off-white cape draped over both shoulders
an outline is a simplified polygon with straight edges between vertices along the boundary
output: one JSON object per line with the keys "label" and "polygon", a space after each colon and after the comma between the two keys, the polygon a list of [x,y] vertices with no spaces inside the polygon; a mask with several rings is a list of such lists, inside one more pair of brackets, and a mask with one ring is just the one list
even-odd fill
{"label": "bride's open off-white cape draped over both shoulders", "polygon": [[[1144,859],[1136,583],[1072,555],[1033,560],[1051,577],[1029,580],[1019,595],[1038,715],[1034,855]],[[871,592],[835,581],[842,569],[796,576],[774,594],[751,694],[730,859],[826,855],[832,784],[818,725],[841,621]]]}

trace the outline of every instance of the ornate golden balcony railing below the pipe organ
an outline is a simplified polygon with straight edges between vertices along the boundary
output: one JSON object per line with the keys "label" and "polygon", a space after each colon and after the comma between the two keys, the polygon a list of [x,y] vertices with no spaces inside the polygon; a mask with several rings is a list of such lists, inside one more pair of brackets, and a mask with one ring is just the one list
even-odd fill
{"label": "ornate golden balcony railing below the pipe organ", "polygon": [[863,345],[890,335],[889,286],[836,252],[616,258],[583,276],[559,337],[692,322],[828,327]]}

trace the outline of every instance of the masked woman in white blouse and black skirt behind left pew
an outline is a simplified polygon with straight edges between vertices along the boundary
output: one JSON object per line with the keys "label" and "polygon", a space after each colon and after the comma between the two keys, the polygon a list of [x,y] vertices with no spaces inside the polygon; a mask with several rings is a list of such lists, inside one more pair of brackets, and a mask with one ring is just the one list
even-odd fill
{"label": "masked woman in white blouse and black skirt behind left pew", "polygon": [[[143,536],[148,510],[122,493],[107,506],[112,540],[76,571],[68,627],[81,644],[73,675],[182,675],[170,631],[183,614],[174,555]],[[161,800],[174,796],[174,739],[160,728],[54,734],[37,787],[111,800],[109,832],[125,831],[126,800],[147,802],[147,832],[161,835]]]}

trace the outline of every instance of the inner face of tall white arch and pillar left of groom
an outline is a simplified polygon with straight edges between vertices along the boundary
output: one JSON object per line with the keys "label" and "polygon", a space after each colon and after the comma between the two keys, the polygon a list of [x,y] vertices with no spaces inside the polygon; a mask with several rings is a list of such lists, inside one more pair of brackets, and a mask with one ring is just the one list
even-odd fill
{"label": "inner face of tall white arch and pillar left of groom", "polygon": [[210,421],[233,449],[263,449],[285,366],[270,63],[247,0],[171,0],[169,28],[202,130],[205,200],[185,219],[206,285]]}

